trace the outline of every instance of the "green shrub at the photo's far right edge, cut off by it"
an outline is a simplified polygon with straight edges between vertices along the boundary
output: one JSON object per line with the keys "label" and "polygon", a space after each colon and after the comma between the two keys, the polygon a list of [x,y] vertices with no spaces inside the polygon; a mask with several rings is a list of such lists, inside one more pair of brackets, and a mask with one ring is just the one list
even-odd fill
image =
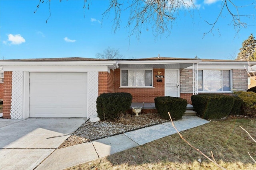
{"label": "green shrub at the photo's far right edge, cut off by it", "polygon": [[242,114],[256,117],[256,93],[254,92],[234,92],[243,100]]}

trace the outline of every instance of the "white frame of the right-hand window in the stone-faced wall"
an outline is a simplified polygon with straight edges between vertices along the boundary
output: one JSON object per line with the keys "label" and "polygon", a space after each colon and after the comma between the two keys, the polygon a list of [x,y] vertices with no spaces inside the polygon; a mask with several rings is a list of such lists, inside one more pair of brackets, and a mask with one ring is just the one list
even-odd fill
{"label": "white frame of the right-hand window in the stone-faced wall", "polygon": [[[198,69],[203,71],[204,75],[204,70],[221,70],[221,83],[222,83],[222,91],[204,91],[204,76],[203,76],[203,91],[199,91],[198,93],[232,93],[233,89],[233,74],[232,74],[232,69]],[[230,91],[223,91],[223,70],[229,70],[230,71]]]}

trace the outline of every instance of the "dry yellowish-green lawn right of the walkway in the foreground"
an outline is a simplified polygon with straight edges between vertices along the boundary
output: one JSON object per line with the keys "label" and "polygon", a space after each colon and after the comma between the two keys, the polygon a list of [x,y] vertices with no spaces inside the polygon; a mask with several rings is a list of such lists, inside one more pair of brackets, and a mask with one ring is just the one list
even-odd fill
{"label": "dry yellowish-green lawn right of the walkway in the foreground", "polygon": [[[182,132],[192,145],[228,170],[255,170],[256,143],[240,127],[256,139],[256,119],[211,121]],[[197,160],[201,159],[202,162]],[[178,134],[112,154],[68,170],[217,170],[218,167],[188,146]]]}

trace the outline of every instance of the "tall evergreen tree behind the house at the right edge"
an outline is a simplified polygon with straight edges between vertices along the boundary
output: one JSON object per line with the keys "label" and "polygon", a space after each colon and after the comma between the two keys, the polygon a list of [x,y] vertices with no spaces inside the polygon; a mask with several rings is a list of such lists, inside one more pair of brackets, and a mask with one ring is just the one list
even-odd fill
{"label": "tall evergreen tree behind the house at the right edge", "polygon": [[236,60],[242,61],[256,61],[256,39],[253,34],[244,40],[242,43],[242,48],[236,57]]}

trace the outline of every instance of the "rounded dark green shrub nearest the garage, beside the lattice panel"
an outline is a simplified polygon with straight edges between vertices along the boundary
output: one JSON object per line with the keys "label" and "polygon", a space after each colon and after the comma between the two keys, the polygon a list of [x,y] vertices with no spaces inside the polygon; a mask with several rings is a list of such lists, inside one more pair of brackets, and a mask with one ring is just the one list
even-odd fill
{"label": "rounded dark green shrub nearest the garage, beside the lattice panel", "polygon": [[103,93],[96,100],[100,120],[114,120],[126,112],[132,104],[130,93]]}

